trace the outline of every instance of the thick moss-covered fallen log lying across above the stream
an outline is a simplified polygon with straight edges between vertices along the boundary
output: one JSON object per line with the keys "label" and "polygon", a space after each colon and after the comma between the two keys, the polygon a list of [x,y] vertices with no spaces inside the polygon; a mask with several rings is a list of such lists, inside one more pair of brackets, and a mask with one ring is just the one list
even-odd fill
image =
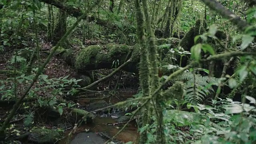
{"label": "thick moss-covered fallen log lying across above the stream", "polygon": [[[170,48],[176,48],[180,40],[178,38],[157,39],[156,44],[170,44]],[[56,55],[60,56],[68,65],[73,66],[79,73],[98,69],[117,68],[124,63],[127,54],[132,51],[129,58],[130,64],[123,68],[126,72],[138,73],[140,60],[140,46],[128,46],[125,44],[107,44],[105,46],[92,45],[80,49],[59,48]],[[159,48],[159,52],[167,53],[168,50]],[[116,63],[115,63],[116,62]],[[117,65],[116,65],[117,64]]]}

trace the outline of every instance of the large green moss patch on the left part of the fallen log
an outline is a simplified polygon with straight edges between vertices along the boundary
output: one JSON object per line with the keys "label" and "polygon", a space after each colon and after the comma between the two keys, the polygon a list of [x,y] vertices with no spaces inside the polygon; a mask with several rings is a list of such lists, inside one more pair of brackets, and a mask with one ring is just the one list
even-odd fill
{"label": "large green moss patch on the left part of the fallen log", "polygon": [[88,46],[80,51],[76,57],[76,68],[80,68],[83,65],[90,64],[97,61],[97,55],[102,50],[102,47],[99,45]]}

